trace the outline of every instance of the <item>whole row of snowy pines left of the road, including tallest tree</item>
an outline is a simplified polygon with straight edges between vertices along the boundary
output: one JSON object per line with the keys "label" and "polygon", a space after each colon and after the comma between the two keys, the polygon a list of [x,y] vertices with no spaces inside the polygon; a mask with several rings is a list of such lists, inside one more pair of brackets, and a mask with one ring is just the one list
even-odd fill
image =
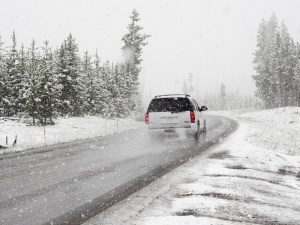
{"label": "whole row of snowy pines left of the road, including tallest tree", "polygon": [[149,35],[140,34],[134,10],[124,42],[124,62],[101,63],[96,53],[79,48],[70,34],[58,49],[45,41],[36,47],[4,48],[0,38],[0,116],[30,116],[33,125],[53,124],[58,115],[127,117],[141,109],[138,76],[142,47]]}

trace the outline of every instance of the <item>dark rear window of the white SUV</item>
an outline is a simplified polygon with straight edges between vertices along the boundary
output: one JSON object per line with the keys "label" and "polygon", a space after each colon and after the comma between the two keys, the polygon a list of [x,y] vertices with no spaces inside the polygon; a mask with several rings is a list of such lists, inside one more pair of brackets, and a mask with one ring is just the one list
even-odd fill
{"label": "dark rear window of the white SUV", "polygon": [[187,98],[157,98],[150,102],[148,112],[183,112],[192,110]]}

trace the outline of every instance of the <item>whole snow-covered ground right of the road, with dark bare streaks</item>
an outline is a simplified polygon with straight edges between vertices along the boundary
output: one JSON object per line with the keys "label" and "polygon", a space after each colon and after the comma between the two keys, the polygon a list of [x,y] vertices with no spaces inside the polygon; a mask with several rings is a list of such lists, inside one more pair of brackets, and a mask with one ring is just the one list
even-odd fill
{"label": "whole snow-covered ground right of the road, with dark bare streaks", "polygon": [[299,112],[231,114],[233,135],[85,224],[300,224]]}

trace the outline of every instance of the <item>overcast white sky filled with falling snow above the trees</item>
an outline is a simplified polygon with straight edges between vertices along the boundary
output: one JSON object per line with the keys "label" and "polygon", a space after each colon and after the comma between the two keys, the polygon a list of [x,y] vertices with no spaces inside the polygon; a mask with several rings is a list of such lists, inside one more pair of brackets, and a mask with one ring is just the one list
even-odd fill
{"label": "overcast white sky filled with falling snow above the trees", "polygon": [[[285,20],[300,41],[297,0],[0,0],[0,35],[5,46],[16,32],[18,46],[56,47],[72,33],[81,52],[96,49],[102,61],[122,60],[121,38],[133,8],[152,35],[144,48],[141,82],[146,95],[182,93],[189,73],[198,77],[198,93],[255,90],[253,52],[262,18],[272,12]],[[150,94],[151,93],[151,94]]]}

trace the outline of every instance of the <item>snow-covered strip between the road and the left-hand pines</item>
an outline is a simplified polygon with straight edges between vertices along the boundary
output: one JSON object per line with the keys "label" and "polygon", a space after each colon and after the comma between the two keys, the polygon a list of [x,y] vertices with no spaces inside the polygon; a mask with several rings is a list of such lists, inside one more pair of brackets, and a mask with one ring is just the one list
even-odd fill
{"label": "snow-covered strip between the road and the left-hand pines", "polygon": [[[52,144],[94,138],[145,126],[132,119],[108,120],[100,117],[58,118],[53,126],[27,126],[25,123],[0,118],[0,154],[22,151],[28,148],[43,147]],[[17,144],[13,142],[17,136]]]}

